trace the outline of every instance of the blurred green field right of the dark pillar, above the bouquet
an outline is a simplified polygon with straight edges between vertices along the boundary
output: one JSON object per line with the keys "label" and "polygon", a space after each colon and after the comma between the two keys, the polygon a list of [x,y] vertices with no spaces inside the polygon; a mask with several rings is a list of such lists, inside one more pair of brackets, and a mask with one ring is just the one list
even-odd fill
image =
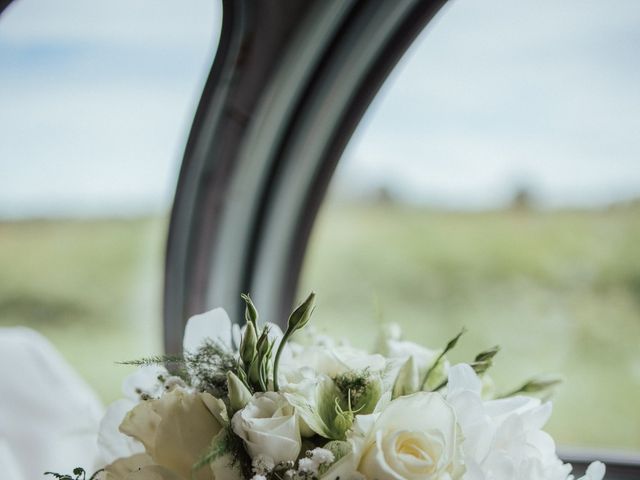
{"label": "blurred green field right of the dark pillar, above the bouquet", "polygon": [[640,208],[439,213],[325,206],[300,296],[316,326],[371,346],[383,322],[455,361],[499,344],[498,392],[561,373],[549,430],[640,450]]}

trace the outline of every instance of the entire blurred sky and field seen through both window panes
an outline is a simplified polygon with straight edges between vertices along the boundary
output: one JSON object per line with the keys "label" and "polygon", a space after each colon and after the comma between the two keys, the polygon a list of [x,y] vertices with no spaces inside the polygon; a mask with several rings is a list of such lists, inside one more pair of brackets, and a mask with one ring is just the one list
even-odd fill
{"label": "entire blurred sky and field seen through both window panes", "polygon": [[[161,349],[164,243],[215,52],[204,0],[17,0],[0,18],[0,326],[105,402]],[[498,393],[562,373],[560,443],[640,451],[640,3],[455,0],[392,73],[314,229],[300,296],[372,347],[400,324]],[[258,306],[259,307],[259,306]],[[4,368],[4,367],[3,367]]]}

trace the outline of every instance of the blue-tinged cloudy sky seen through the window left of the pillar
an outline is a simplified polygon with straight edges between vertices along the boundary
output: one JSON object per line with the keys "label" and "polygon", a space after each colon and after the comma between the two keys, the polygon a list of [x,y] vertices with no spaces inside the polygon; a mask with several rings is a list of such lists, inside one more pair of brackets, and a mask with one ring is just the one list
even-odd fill
{"label": "blue-tinged cloudy sky seen through the window left of the pillar", "polygon": [[169,208],[211,0],[16,0],[0,17],[0,216]]}

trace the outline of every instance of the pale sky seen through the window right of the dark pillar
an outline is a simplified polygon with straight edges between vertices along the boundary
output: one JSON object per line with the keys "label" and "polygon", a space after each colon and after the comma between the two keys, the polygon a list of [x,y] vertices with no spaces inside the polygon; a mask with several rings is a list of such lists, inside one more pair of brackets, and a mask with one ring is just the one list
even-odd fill
{"label": "pale sky seen through the window right of the dark pillar", "polygon": [[521,187],[547,206],[640,196],[640,2],[450,2],[370,108],[341,180],[464,209]]}

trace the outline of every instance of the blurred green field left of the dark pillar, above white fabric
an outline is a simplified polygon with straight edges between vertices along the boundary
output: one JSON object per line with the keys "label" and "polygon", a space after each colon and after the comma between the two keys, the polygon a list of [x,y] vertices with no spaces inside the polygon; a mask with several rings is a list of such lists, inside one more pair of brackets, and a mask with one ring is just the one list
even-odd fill
{"label": "blurred green field left of the dark pillar, above white fabric", "polygon": [[106,402],[161,348],[161,220],[0,223],[0,326],[43,333]]}

